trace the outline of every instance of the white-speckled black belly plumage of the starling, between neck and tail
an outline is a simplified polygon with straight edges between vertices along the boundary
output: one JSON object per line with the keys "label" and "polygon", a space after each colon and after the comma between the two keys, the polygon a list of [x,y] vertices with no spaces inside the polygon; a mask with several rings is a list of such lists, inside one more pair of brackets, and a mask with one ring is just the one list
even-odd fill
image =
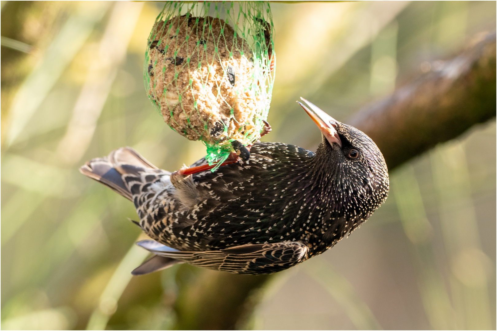
{"label": "white-speckled black belly plumage of the starling, between neck and tail", "polygon": [[[179,250],[305,241],[311,234],[301,223],[315,222],[319,212],[301,199],[305,188],[295,184],[304,176],[302,160],[295,158],[305,159],[311,152],[275,143],[254,147],[248,164],[194,175],[203,199],[191,208],[185,208],[174,187],[164,181],[161,193],[138,208],[144,216],[142,228],[153,239]],[[292,158],[286,156],[289,149]]]}

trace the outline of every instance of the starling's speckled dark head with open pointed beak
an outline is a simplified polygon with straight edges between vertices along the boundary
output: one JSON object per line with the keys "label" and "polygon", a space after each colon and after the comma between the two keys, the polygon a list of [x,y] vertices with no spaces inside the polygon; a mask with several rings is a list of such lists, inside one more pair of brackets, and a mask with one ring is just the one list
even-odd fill
{"label": "starling's speckled dark head with open pointed beak", "polygon": [[[355,200],[366,211],[366,218],[386,198],[389,190],[388,169],[383,154],[364,132],[336,121],[313,103],[302,98],[299,102],[323,133],[323,141],[316,152],[316,171],[321,180],[331,179],[342,197],[342,207]],[[338,192],[334,192],[338,194]],[[372,208],[372,210],[366,210]],[[358,210],[354,210],[357,212]]]}

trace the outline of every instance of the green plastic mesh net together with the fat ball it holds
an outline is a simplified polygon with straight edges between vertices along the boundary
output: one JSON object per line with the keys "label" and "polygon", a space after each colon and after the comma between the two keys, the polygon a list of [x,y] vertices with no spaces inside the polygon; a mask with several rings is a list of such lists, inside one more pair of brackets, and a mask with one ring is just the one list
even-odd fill
{"label": "green plastic mesh net together with the fat ball it holds", "polygon": [[147,93],[169,127],[205,143],[211,165],[234,151],[232,141],[260,138],[274,82],[272,31],[267,1],[169,1],[156,19]]}

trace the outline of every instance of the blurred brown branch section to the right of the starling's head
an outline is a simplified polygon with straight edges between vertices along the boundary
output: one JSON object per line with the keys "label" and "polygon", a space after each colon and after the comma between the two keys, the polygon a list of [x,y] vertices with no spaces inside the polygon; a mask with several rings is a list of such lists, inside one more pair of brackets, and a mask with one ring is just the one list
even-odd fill
{"label": "blurred brown branch section to the right of the starling's head", "polygon": [[378,145],[389,169],[496,116],[496,34],[367,105],[347,124]]}

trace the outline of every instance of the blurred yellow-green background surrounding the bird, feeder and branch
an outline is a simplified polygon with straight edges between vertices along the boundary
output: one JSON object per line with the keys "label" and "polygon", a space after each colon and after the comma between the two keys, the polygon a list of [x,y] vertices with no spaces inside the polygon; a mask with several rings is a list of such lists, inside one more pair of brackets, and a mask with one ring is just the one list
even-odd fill
{"label": "blurred yellow-green background surrounding the bird, feeder and branch", "polygon": [[[161,2],[1,1],[1,329],[169,329],[173,267],[147,254],[133,204],[83,177],[132,146],[176,170],[205,147],[173,132],[143,84]],[[495,1],[271,2],[276,82],[263,140],[315,150],[303,96],[346,123],[475,34]],[[254,329],[495,329],[496,123],[391,172],[359,230],[267,286]],[[179,270],[179,271],[178,271]],[[184,270],[183,270],[184,271]]]}

